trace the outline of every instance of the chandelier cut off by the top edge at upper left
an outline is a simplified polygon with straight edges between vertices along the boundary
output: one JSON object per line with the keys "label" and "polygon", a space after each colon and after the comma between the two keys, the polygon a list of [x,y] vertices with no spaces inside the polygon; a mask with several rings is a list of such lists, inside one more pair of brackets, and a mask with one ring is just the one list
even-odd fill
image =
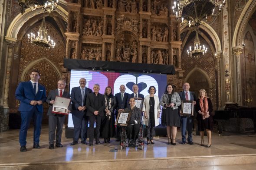
{"label": "chandelier cut off by the top edge at upper left", "polygon": [[25,8],[30,7],[32,10],[36,10],[38,6],[43,6],[43,9],[51,13],[58,6],[59,0],[18,0],[21,6],[21,13],[25,13]]}

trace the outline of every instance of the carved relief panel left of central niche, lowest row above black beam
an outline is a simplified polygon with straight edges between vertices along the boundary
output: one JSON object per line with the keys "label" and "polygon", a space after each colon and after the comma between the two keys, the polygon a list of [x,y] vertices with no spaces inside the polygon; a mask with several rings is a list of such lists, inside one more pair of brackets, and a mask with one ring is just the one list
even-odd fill
{"label": "carved relief panel left of central niche, lowest row above black beam", "polygon": [[81,48],[82,60],[102,60],[102,46],[101,44],[87,44],[82,43]]}

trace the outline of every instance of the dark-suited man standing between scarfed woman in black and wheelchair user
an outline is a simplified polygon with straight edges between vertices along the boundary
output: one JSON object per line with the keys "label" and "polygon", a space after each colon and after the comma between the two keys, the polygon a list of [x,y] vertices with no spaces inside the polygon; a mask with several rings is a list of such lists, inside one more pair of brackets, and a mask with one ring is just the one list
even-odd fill
{"label": "dark-suited man standing between scarfed woman in black and wheelchair user", "polygon": [[[118,116],[118,111],[120,111],[120,109],[125,109],[126,108],[126,101],[128,99],[128,93],[125,93],[125,85],[120,85],[120,93],[115,94],[115,104],[116,104],[116,108],[115,108],[115,118],[117,118]],[[117,134],[117,140],[119,140],[120,137],[120,127],[117,126],[116,129],[116,134]]]}

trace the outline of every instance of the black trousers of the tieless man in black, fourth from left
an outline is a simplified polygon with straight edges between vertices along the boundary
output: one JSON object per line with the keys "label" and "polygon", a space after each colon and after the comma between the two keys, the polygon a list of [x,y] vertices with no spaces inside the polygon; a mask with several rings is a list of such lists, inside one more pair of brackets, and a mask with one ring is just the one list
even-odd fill
{"label": "black trousers of the tieless man in black, fourth from left", "polygon": [[89,116],[89,121],[90,121],[90,126],[89,126],[89,142],[92,143],[94,139],[94,123],[96,121],[96,136],[95,139],[96,141],[99,140],[99,135],[100,135],[100,126],[101,126],[101,121],[102,121],[102,116]]}

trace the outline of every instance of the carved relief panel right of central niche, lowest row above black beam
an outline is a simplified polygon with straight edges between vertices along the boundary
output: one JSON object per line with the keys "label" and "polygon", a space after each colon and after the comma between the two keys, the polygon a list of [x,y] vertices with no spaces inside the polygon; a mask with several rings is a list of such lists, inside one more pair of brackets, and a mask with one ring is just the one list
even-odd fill
{"label": "carved relief panel right of central niche, lowest row above black beam", "polygon": [[154,48],[151,50],[152,64],[168,64],[169,54],[166,49]]}

